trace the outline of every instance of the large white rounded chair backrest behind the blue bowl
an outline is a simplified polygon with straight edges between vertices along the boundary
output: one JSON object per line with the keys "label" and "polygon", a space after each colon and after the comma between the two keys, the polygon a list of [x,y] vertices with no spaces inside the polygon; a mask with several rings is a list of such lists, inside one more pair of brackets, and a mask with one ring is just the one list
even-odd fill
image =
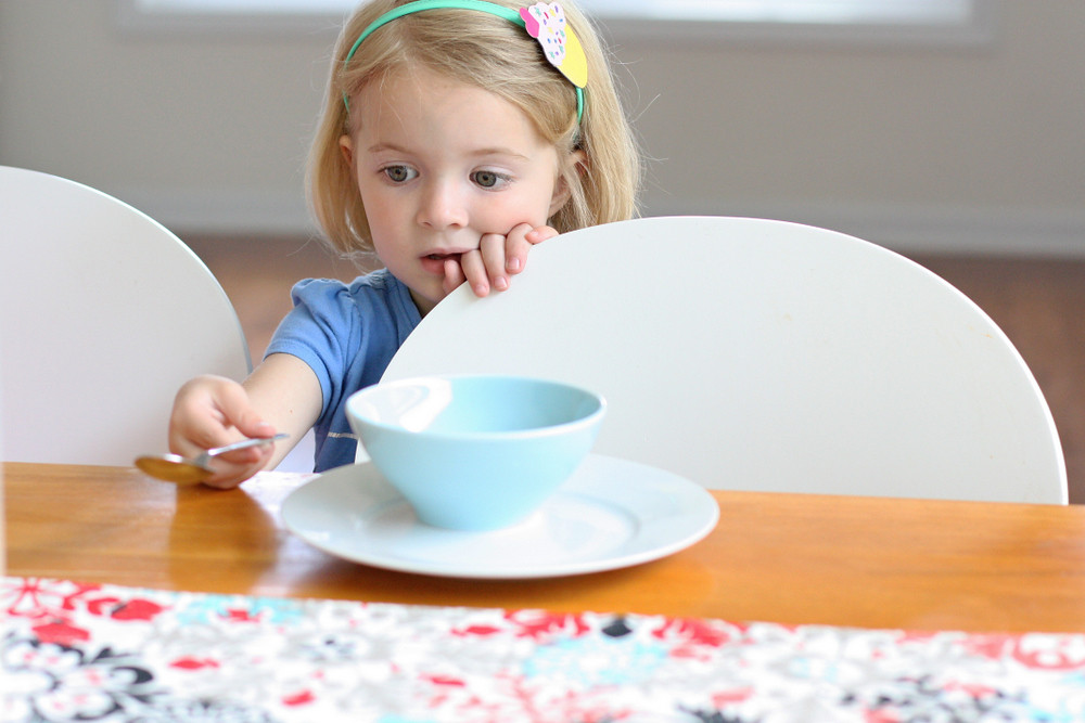
{"label": "large white rounded chair backrest behind the blue bowl", "polygon": [[449,295],[384,378],[483,372],[602,392],[596,452],[710,488],[1067,502],[1050,411],[1006,335],[930,271],[824,229],[565,234],[510,291]]}

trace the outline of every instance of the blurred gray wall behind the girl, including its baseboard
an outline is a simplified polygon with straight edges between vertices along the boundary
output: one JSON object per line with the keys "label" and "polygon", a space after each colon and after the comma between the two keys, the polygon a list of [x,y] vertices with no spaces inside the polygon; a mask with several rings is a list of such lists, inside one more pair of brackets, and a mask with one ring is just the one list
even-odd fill
{"label": "blurred gray wall behind the girl, including its baseboard", "polygon": [[[182,236],[308,228],[335,30],[124,30],[114,0],[0,0],[0,164]],[[1085,2],[1001,0],[990,42],[610,33],[652,156],[646,215],[783,218],[902,250],[1085,256]]]}

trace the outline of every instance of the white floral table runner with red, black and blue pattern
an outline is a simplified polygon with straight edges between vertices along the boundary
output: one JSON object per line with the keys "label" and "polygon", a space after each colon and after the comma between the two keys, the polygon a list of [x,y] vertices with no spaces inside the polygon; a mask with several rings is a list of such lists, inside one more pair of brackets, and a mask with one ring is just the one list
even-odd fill
{"label": "white floral table runner with red, black and blue pattern", "polygon": [[2,721],[1085,720],[1085,635],[443,608],[0,578]]}

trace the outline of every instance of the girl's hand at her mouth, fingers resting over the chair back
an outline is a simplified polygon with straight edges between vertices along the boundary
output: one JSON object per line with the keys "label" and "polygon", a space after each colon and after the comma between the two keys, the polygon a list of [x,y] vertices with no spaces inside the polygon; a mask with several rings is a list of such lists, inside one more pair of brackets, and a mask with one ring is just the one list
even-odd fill
{"label": "girl's hand at her mouth, fingers resting over the chair back", "polygon": [[487,233],[477,250],[463,254],[459,261],[445,261],[445,293],[450,294],[464,281],[478,297],[488,295],[490,289],[503,292],[509,287],[510,277],[524,270],[532,246],[557,235],[558,232],[548,225],[532,227],[531,223],[521,223],[505,236]]}

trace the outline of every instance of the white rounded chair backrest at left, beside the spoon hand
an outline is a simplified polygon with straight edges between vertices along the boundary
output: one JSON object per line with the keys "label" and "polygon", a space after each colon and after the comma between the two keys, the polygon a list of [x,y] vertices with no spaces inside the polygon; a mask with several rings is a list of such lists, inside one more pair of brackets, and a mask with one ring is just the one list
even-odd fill
{"label": "white rounded chair backrest at left, beside the spoon hand", "polygon": [[130,465],[186,379],[250,370],[207,267],[86,185],[0,167],[0,459]]}

